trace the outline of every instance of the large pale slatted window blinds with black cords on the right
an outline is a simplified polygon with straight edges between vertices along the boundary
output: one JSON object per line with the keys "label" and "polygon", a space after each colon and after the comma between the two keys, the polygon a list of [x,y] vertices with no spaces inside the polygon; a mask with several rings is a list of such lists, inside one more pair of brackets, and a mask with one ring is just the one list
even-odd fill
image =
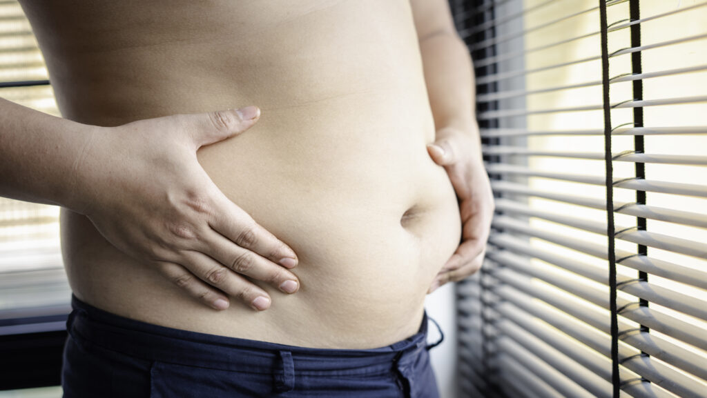
{"label": "large pale slatted window blinds with black cords on the right", "polygon": [[461,397],[707,397],[707,1],[450,5],[497,199]]}

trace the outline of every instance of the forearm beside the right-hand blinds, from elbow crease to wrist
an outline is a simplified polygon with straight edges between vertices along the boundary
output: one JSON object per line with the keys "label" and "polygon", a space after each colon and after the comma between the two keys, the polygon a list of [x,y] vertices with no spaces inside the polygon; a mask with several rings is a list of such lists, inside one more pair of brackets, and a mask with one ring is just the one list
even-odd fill
{"label": "forearm beside the right-hand blinds, from elbow crease to wrist", "polygon": [[444,30],[421,37],[420,52],[436,129],[468,131],[480,153],[474,69],[467,47],[456,33]]}

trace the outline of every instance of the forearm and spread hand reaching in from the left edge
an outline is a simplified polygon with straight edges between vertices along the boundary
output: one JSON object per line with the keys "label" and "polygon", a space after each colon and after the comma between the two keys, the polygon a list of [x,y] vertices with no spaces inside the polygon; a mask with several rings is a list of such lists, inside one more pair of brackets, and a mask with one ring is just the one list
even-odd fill
{"label": "forearm and spread hand reaching in from the left edge", "polygon": [[[267,309],[269,296],[246,277],[297,291],[293,250],[226,199],[197,162],[199,147],[255,124],[256,107],[105,128],[0,105],[3,197],[88,216],[112,245],[216,310],[228,308],[228,295]],[[185,236],[187,226],[198,240]],[[246,250],[257,262],[237,273]]]}

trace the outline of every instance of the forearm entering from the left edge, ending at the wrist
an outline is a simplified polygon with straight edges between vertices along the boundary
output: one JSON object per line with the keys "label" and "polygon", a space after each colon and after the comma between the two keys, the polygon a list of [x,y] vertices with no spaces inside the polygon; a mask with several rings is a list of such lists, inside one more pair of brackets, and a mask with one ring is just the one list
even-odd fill
{"label": "forearm entering from the left edge, ending at the wrist", "polygon": [[76,168],[94,129],[0,98],[0,197],[80,210]]}

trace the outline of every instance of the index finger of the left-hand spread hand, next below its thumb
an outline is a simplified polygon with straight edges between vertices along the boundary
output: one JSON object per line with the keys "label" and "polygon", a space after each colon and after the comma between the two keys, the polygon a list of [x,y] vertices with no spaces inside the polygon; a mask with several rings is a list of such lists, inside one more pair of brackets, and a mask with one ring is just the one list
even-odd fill
{"label": "index finger of the left-hand spread hand, next below its thumb", "polygon": [[218,199],[219,209],[214,211],[209,226],[226,239],[247,250],[260,254],[271,262],[286,268],[297,266],[295,252],[260,226],[248,213],[236,206],[226,196]]}

